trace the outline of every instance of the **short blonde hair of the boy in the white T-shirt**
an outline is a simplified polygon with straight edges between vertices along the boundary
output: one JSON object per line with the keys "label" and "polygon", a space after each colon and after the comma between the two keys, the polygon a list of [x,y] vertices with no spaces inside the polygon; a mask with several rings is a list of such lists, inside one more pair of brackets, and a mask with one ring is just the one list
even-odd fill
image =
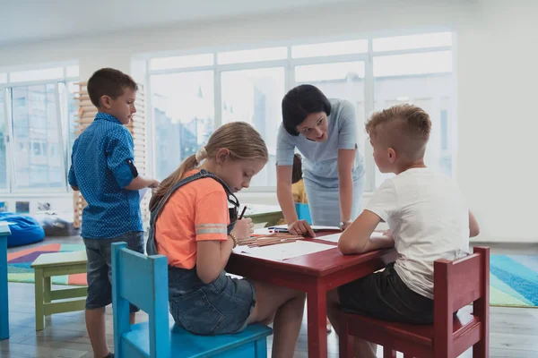
{"label": "short blonde hair of the boy in the white T-shirt", "polygon": [[430,140],[430,115],[410,104],[393,106],[374,113],[366,124],[370,136],[404,154],[409,160],[424,157]]}

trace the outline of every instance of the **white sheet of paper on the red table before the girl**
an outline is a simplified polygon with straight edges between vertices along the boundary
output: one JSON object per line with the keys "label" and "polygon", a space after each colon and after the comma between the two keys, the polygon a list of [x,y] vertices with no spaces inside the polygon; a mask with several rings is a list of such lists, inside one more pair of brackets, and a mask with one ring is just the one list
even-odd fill
{"label": "white sheet of paper on the red table before the girl", "polygon": [[334,249],[334,245],[299,240],[294,243],[278,243],[262,247],[238,246],[234,251],[247,252],[260,259],[282,261],[330,249]]}

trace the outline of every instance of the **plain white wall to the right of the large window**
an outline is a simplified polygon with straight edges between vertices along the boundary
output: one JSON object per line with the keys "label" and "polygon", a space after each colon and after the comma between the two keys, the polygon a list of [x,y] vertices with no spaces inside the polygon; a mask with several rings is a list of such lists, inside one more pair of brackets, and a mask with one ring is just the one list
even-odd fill
{"label": "plain white wall to the right of the large window", "polygon": [[538,241],[538,2],[480,5],[457,36],[456,177],[481,237]]}

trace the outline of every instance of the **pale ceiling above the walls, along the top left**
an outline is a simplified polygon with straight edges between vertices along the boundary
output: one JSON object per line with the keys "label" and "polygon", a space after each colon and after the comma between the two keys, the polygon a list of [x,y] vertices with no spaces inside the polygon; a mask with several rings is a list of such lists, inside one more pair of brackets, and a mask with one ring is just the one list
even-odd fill
{"label": "pale ceiling above the walls, along the top left", "polygon": [[0,0],[0,46],[349,2],[353,1]]}

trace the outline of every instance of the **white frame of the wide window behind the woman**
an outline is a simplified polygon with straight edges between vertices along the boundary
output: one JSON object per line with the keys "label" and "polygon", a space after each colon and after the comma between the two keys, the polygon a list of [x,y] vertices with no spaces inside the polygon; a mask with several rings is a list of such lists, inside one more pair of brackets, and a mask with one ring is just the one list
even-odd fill
{"label": "white frame of the wide window behind the woman", "polygon": [[[307,40],[297,40],[297,41],[282,41],[282,42],[272,42],[272,43],[265,43],[265,44],[258,44],[257,46],[248,46],[245,45],[243,47],[234,47],[233,49],[230,48],[212,48],[209,50],[200,49],[199,51],[180,51],[180,52],[174,52],[173,54],[167,53],[166,55],[148,55],[146,57],[147,59],[147,66],[146,66],[146,83],[148,83],[148,94],[149,94],[149,112],[148,115],[152,116],[152,104],[151,104],[151,98],[152,98],[152,89],[151,89],[151,78],[152,75],[157,74],[172,74],[172,73],[179,73],[179,72],[195,72],[195,71],[204,71],[204,70],[213,70],[214,73],[214,81],[213,81],[213,90],[214,90],[214,128],[218,128],[222,124],[222,117],[221,117],[221,72],[226,71],[240,71],[240,70],[251,70],[251,69],[262,69],[262,68],[269,68],[269,67],[283,67],[284,68],[284,91],[287,92],[288,90],[291,90],[295,87],[296,81],[295,81],[295,67],[299,65],[305,65],[305,64],[334,64],[334,63],[341,63],[341,62],[363,62],[364,68],[365,68],[365,78],[364,78],[364,113],[365,118],[364,120],[367,120],[369,115],[371,115],[374,112],[374,93],[375,93],[375,79],[374,79],[374,57],[376,56],[383,56],[383,55],[409,55],[409,54],[421,54],[421,53],[429,53],[429,52],[438,52],[438,51],[451,51],[452,55],[455,55],[456,46],[456,36],[454,33],[452,33],[452,46],[439,46],[439,47],[422,47],[422,48],[411,48],[411,49],[404,49],[404,50],[394,50],[394,51],[373,51],[373,40],[374,38],[384,38],[384,37],[390,37],[390,36],[405,36],[405,35],[415,35],[415,34],[428,34],[428,33],[435,33],[435,32],[451,32],[447,29],[438,29],[438,30],[423,30],[420,32],[414,32],[414,33],[393,33],[393,34],[382,34],[382,36],[355,36],[355,37],[341,37],[341,38],[311,38]],[[349,40],[359,40],[359,39],[366,39],[368,40],[368,52],[366,53],[357,53],[357,54],[347,54],[347,55],[325,55],[325,56],[318,56],[318,57],[303,57],[303,58],[292,58],[291,57],[291,47],[297,46],[297,45],[308,45],[308,44],[317,44],[317,43],[326,43],[326,42],[338,42],[338,41],[349,41]],[[288,57],[283,60],[273,60],[273,61],[261,61],[261,62],[251,62],[251,63],[242,63],[242,64],[217,64],[217,54],[222,51],[231,51],[231,50],[250,50],[255,48],[266,48],[266,47],[288,47]],[[154,70],[152,71],[150,68],[150,61],[152,58],[156,57],[168,57],[168,56],[180,56],[180,55],[201,55],[201,54],[213,54],[213,65],[208,66],[199,66],[199,67],[184,67],[184,68],[178,68],[178,69],[168,69],[168,70]],[[453,75],[454,75],[453,70]],[[455,102],[456,103],[456,102]],[[453,107],[453,110],[456,109],[456,104]],[[153,133],[154,131],[154,121],[152,121],[152,128],[151,128],[151,141],[152,141],[152,158],[153,163],[155,162],[155,148],[154,148],[154,138]],[[449,121],[450,122],[450,121]],[[449,124],[454,125],[454,124]],[[360,127],[360,126],[359,126]],[[364,128],[360,127],[358,128],[358,131],[360,133],[364,132]],[[376,164],[373,160],[373,149],[371,145],[369,144],[369,140],[367,136],[364,136],[365,143],[364,143],[364,153],[363,156],[365,158],[365,170],[366,170],[366,183],[364,188],[364,193],[366,195],[371,194],[371,192],[374,192],[376,189],[375,186],[375,169]],[[451,145],[451,144],[449,144]],[[152,174],[156,175],[156,168],[152,166]],[[276,186],[258,186],[258,187],[250,187],[244,190],[244,192],[250,192],[250,193],[256,193],[256,192],[275,192]]]}

